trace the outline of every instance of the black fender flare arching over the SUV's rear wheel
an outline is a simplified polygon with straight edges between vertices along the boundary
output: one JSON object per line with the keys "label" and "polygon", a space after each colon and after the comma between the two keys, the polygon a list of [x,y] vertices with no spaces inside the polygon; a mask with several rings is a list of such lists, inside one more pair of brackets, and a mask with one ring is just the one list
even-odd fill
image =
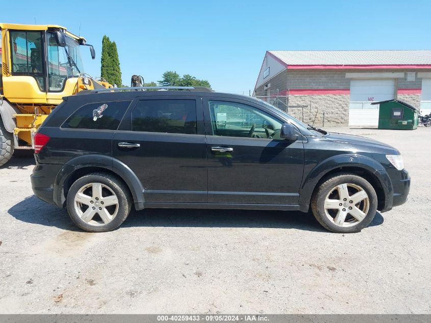
{"label": "black fender flare arching over the SUV's rear wheel", "polygon": [[[86,154],[69,160],[60,168],[54,181],[54,202],[59,207],[63,207],[65,196],[63,187],[66,180],[77,170],[85,167],[104,168],[114,172],[129,187],[132,192],[135,207],[141,207],[144,203],[144,188],[135,172],[118,159],[106,155]],[[142,207],[141,207],[142,208]]]}

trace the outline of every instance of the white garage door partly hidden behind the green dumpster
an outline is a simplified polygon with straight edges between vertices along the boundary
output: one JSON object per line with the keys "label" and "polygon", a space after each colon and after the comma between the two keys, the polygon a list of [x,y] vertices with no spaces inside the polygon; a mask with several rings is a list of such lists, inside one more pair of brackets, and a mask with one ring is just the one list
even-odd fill
{"label": "white garage door partly hidden behind the green dumpster", "polygon": [[395,80],[351,80],[349,126],[377,126],[378,105],[395,98]]}

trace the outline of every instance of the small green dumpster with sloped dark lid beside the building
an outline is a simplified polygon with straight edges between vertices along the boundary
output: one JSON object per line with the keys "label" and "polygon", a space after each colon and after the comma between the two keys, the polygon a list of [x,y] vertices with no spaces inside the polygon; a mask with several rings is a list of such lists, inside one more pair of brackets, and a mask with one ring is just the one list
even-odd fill
{"label": "small green dumpster with sloped dark lid beside the building", "polygon": [[374,102],[379,105],[378,129],[414,130],[418,128],[419,111],[399,100]]}

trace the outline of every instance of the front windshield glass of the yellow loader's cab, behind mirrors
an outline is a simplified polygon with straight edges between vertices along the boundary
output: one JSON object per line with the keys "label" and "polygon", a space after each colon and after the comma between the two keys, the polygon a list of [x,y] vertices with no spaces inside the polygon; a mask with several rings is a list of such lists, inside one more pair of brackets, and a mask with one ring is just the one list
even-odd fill
{"label": "front windshield glass of the yellow loader's cab, behind mirrors", "polygon": [[62,91],[68,78],[84,72],[80,44],[66,35],[66,46],[59,47],[54,34],[47,35],[49,91]]}

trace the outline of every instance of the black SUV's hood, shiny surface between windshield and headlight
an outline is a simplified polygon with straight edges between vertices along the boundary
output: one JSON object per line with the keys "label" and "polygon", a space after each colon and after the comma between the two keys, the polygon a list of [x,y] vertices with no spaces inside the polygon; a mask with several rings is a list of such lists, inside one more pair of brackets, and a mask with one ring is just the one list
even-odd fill
{"label": "black SUV's hood, shiny surface between windshield and headlight", "polygon": [[362,137],[362,136],[355,136],[355,135],[348,135],[348,134],[340,134],[340,133],[328,133],[325,137],[326,140],[337,142],[340,144],[344,144],[347,147],[355,148],[355,147],[369,147],[370,151],[376,151],[379,153],[390,153],[390,154],[399,154],[399,151],[394,148],[391,145],[388,145],[387,143],[377,141],[374,139]]}

